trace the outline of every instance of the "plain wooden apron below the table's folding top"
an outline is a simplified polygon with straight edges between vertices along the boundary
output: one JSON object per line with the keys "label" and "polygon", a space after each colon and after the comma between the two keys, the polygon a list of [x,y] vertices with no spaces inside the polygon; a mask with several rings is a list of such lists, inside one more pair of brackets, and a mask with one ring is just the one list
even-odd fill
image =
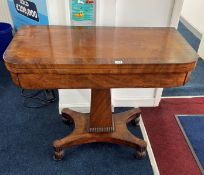
{"label": "plain wooden apron below the table's folding top", "polygon": [[157,88],[182,86],[190,73],[128,75],[15,74],[13,82],[25,89]]}

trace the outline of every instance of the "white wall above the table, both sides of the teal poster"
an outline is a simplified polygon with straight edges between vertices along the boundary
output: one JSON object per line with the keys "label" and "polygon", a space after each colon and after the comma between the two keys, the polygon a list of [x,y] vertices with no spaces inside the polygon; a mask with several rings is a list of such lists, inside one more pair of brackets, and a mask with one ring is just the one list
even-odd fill
{"label": "white wall above the table, both sides of the teal poster", "polygon": [[[175,2],[175,3],[174,3]],[[97,26],[176,27],[183,0],[96,0]],[[179,7],[174,9],[175,5]],[[69,0],[47,0],[51,25],[71,25]],[[144,10],[145,9],[145,10]]]}

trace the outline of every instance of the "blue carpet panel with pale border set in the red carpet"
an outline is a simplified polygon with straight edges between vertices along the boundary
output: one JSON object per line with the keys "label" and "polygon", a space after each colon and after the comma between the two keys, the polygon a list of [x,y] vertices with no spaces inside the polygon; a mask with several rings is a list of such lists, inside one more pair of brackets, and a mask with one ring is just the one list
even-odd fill
{"label": "blue carpet panel with pale border set in the red carpet", "polygon": [[177,121],[179,122],[201,172],[204,174],[204,115],[178,115]]}

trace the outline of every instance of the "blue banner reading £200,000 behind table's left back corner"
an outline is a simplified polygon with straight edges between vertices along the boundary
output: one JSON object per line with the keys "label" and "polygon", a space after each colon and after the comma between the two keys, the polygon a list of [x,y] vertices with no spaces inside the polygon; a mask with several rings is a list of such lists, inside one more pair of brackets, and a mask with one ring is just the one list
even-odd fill
{"label": "blue banner reading \u00a3200,000 behind table's left back corner", "polygon": [[48,25],[46,0],[8,0],[14,27]]}

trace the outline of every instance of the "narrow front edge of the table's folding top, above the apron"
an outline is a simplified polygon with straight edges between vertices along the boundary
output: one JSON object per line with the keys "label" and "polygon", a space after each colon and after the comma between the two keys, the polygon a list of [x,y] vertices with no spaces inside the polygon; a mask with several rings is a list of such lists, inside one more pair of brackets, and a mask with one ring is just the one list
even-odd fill
{"label": "narrow front edge of the table's folding top, above the apron", "polygon": [[[139,59],[139,58],[138,58]],[[177,58],[175,58],[176,60]],[[5,57],[6,60],[6,57]],[[196,59],[195,59],[196,60]],[[113,63],[114,64],[114,63]],[[188,72],[195,67],[195,62],[192,63],[181,63],[181,64],[118,64],[117,69],[115,65],[87,65],[85,68],[83,65],[71,67],[72,65],[67,65],[68,67],[62,65],[62,68],[52,68],[52,65],[47,65],[47,68],[40,68],[39,65],[28,65],[28,67],[16,68],[16,65],[12,65],[6,62],[7,68],[14,73],[29,73],[29,74],[138,74],[138,73],[179,73],[179,72]],[[80,68],[81,66],[81,68]],[[148,66],[148,69],[146,69]]]}

